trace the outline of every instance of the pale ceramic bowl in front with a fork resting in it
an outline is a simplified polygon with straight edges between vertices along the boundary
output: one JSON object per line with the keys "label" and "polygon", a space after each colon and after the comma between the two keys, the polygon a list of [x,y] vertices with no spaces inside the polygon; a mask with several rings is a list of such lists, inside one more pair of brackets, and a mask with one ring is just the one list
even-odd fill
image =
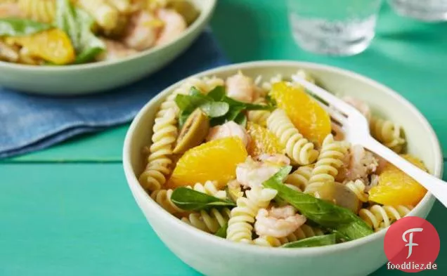
{"label": "pale ceramic bowl in front with a fork resting in it", "polygon": [[[390,88],[353,72],[313,63],[266,61],[219,67],[198,74],[228,77],[242,70],[257,77],[290,75],[299,68],[312,74],[329,91],[355,96],[370,104],[373,112],[399,122],[406,131],[409,152],[420,157],[440,177],[443,159],[438,139],[427,120],[413,105]],[[162,100],[178,84],[165,89],[138,113],[124,141],[123,163],[127,182],[145,217],[164,244],[181,260],[205,275],[368,275],[387,259],[383,242],[385,230],[343,244],[303,249],[265,248],[228,242],[197,230],[171,216],[141,188],[137,176],[143,170],[141,149],[150,145],[154,114]],[[424,135],[420,135],[424,133]],[[434,197],[427,193],[410,216],[425,218]]]}

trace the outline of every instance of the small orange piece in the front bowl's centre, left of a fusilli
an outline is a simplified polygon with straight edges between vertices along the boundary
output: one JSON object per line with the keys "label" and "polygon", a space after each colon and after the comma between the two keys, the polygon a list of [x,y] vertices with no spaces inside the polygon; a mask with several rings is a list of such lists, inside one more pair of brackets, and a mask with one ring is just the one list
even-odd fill
{"label": "small orange piece in the front bowl's centre, left of a fusilli", "polygon": [[258,157],[262,154],[283,153],[284,147],[280,144],[278,138],[264,126],[249,121],[247,132],[250,135],[247,150],[252,157]]}

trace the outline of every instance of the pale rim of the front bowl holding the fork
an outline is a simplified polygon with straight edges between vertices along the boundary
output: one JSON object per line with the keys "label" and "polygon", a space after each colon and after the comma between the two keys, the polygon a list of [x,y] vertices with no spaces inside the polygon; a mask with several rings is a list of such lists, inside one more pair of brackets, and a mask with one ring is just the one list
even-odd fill
{"label": "pale rim of the front bowl holding the fork", "polygon": [[[439,139],[436,136],[436,133],[434,132],[434,129],[432,128],[431,124],[427,121],[427,119],[420,113],[417,108],[410,103],[406,98],[403,98],[399,93],[394,91],[393,89],[389,88],[388,86],[384,86],[383,84],[380,84],[379,82],[370,79],[368,77],[364,77],[361,74],[351,72],[349,70],[344,70],[339,67],[333,67],[330,65],[322,65],[318,63],[309,63],[309,62],[299,62],[299,61],[291,61],[291,60],[260,60],[260,61],[252,61],[247,63],[236,63],[233,65],[224,65],[221,67],[216,67],[211,70],[206,70],[204,72],[200,72],[198,74],[193,74],[190,77],[210,77],[214,74],[218,74],[222,71],[229,71],[229,70],[244,70],[247,68],[253,68],[253,67],[282,67],[282,66],[294,66],[297,68],[302,68],[304,70],[306,69],[314,69],[314,70],[325,70],[329,72],[334,72],[336,74],[344,74],[347,77],[351,77],[352,79],[358,79],[359,81],[363,81],[366,84],[369,84],[370,86],[373,86],[377,88],[378,90],[383,91],[383,93],[388,94],[388,96],[391,96],[395,98],[396,100],[401,103],[401,105],[405,106],[408,110],[410,110],[413,114],[415,114],[415,117],[420,120],[420,122],[425,125],[425,129],[429,132],[429,139],[431,140],[431,145],[434,147],[434,155],[435,155],[435,162],[434,162],[434,170],[433,175],[437,178],[441,178],[443,173],[443,155],[441,151],[441,145],[439,143]],[[190,77],[186,77],[185,79],[188,79]],[[202,230],[198,230],[194,227],[191,227],[190,225],[183,223],[183,221],[179,220],[179,218],[176,218],[175,216],[171,215],[168,211],[164,210],[162,206],[157,204],[150,195],[141,187],[140,183],[138,182],[138,178],[136,177],[132,166],[131,166],[131,159],[130,159],[130,152],[131,152],[131,143],[132,143],[132,136],[136,129],[136,125],[139,123],[141,118],[145,113],[147,113],[155,103],[157,103],[158,100],[161,100],[162,98],[165,98],[169,96],[169,93],[174,91],[174,88],[179,86],[181,82],[183,82],[185,79],[182,79],[181,81],[176,82],[175,84],[172,84],[168,88],[165,88],[162,92],[160,92],[157,96],[155,96],[153,99],[151,99],[144,107],[138,112],[134,120],[132,121],[131,125],[129,126],[129,129],[127,131],[126,137],[124,138],[124,147],[123,147],[123,168],[124,168],[124,174],[127,178],[127,183],[129,185],[129,188],[131,189],[132,195],[134,196],[134,199],[136,200],[138,206],[141,211],[143,211],[142,204],[145,204],[145,206],[148,207],[151,211],[153,211],[154,216],[163,216],[163,219],[167,221],[167,223],[170,223],[171,225],[176,225],[176,227],[179,228],[181,232],[187,232],[188,235],[193,235],[197,237],[198,239],[205,239],[206,242],[214,243],[216,246],[219,247],[225,247],[229,250],[241,250],[245,251],[249,254],[274,254],[276,256],[316,256],[320,254],[330,254],[338,251],[344,251],[349,250],[354,247],[359,247],[364,244],[368,244],[370,242],[377,242],[380,239],[384,239],[385,232],[387,228],[384,228],[380,231],[374,232],[371,235],[368,235],[366,237],[362,237],[360,239],[354,239],[349,242],[343,242],[339,244],[331,244],[325,247],[309,247],[309,248],[300,248],[300,249],[294,249],[290,250],[287,248],[281,248],[281,247],[254,247],[251,244],[243,244],[243,243],[237,243],[237,242],[229,242],[226,239],[222,239],[220,237],[216,237],[215,235],[209,234],[207,232],[204,232]],[[138,197],[142,197],[144,202],[140,202]],[[415,211],[422,209],[422,206],[432,204],[434,202],[434,196],[427,192],[425,197],[421,199],[421,201],[415,206],[414,209],[408,213],[408,216],[411,216],[412,213],[415,213]],[[144,212],[143,212],[144,213]],[[149,221],[148,221],[149,222]],[[150,222],[149,222],[150,223]]]}

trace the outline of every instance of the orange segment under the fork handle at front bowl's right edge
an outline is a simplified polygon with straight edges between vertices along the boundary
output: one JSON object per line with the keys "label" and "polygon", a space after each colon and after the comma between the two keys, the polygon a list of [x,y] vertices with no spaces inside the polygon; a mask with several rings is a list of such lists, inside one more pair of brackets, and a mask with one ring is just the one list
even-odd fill
{"label": "orange segment under the fork handle at front bowl's right edge", "polygon": [[[424,164],[411,155],[401,155],[409,162],[418,166],[420,169],[425,168]],[[417,183],[413,178],[407,176],[406,173],[397,169],[391,164],[384,166],[379,176],[379,184],[370,190],[370,201],[384,205],[413,205],[420,202],[425,196],[425,190],[422,185]]]}

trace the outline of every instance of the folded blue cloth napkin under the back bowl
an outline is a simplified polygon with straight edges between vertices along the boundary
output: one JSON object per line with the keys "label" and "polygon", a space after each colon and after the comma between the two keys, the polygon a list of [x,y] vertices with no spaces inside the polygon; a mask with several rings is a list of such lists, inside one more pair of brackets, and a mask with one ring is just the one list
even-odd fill
{"label": "folded blue cloth napkin under the back bowl", "polygon": [[228,64],[209,29],[163,70],[131,86],[92,96],[56,98],[0,87],[0,158],[41,150],[72,136],[124,124],[167,86]]}

